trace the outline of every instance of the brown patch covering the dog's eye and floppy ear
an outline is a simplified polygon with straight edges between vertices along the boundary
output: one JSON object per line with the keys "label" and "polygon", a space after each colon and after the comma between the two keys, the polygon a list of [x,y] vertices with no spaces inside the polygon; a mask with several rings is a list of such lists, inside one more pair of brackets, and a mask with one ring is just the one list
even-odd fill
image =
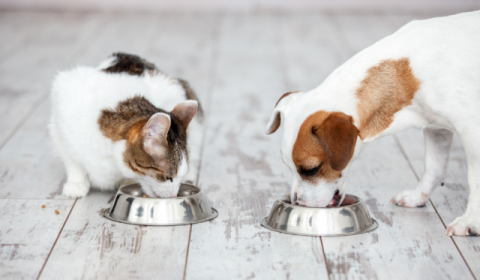
{"label": "brown patch covering the dog's eye and floppy ear", "polygon": [[[300,127],[293,145],[292,158],[304,180],[335,182],[353,156],[358,129],[353,118],[341,112],[318,111]],[[321,164],[318,172],[306,176]]]}

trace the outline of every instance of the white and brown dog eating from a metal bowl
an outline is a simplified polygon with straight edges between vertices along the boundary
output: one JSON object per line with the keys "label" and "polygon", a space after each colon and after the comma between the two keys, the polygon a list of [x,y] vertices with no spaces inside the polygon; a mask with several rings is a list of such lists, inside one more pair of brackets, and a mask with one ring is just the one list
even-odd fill
{"label": "white and brown dog eating from a metal bowl", "polygon": [[[466,212],[448,235],[480,231],[480,11],[413,21],[338,67],[320,86],[278,100],[266,133],[283,122],[292,202],[336,206],[364,146],[407,127],[424,129],[425,173],[392,203],[425,205],[443,182],[453,132],[468,161]],[[342,177],[343,175],[343,177]],[[480,233],[480,232],[479,232]]]}

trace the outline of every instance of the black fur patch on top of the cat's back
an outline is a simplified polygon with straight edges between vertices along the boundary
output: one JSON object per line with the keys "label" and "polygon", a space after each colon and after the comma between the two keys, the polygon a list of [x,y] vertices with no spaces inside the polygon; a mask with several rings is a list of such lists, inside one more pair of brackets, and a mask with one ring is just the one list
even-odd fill
{"label": "black fur patch on top of the cat's back", "polygon": [[112,66],[103,70],[107,73],[128,73],[141,76],[145,70],[154,71],[156,69],[153,63],[133,54],[114,53],[112,56],[116,60]]}

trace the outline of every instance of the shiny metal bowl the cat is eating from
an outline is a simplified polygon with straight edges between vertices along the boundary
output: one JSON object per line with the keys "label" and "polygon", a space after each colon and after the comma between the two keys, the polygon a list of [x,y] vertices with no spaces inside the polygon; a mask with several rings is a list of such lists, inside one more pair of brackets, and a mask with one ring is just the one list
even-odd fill
{"label": "shiny metal bowl the cat is eating from", "polygon": [[134,225],[174,226],[205,222],[218,216],[199,188],[182,184],[177,197],[145,197],[139,184],[120,187],[105,218]]}

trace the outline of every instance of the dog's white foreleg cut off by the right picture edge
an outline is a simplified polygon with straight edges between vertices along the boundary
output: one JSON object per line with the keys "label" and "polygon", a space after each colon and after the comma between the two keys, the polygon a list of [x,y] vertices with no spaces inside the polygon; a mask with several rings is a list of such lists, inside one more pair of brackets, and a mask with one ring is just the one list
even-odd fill
{"label": "dog's white foreleg cut off by the right picture edge", "polygon": [[451,222],[445,234],[447,235],[480,235],[480,149],[478,148],[478,127],[470,128],[464,133],[459,131],[462,138],[468,164],[468,195],[467,210],[462,216]]}

